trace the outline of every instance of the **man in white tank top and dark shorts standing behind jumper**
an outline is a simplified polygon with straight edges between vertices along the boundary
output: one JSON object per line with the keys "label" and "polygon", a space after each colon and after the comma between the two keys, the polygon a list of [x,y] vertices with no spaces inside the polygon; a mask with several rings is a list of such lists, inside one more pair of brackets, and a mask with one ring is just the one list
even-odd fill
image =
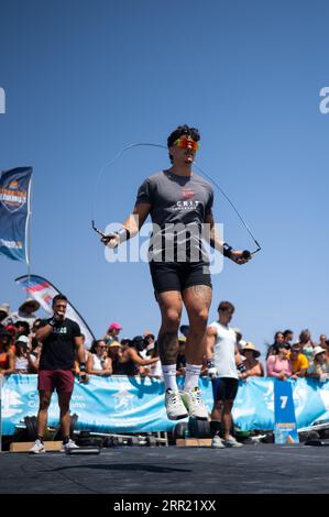
{"label": "man in white tank top and dark shorts standing behind jumper", "polygon": [[245,370],[239,353],[237,334],[229,327],[234,312],[230,301],[221,301],[218,307],[218,321],[207,330],[208,375],[212,380],[213,407],[211,413],[212,447],[241,447],[230,435],[232,407],[238,392],[239,371]]}

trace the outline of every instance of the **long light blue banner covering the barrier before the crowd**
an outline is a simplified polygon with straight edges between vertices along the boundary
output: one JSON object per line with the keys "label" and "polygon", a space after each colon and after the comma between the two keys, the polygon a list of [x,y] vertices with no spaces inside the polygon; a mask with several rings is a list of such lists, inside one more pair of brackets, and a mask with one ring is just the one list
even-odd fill
{"label": "long light blue banner covering the barrier before the crowd", "polygon": [[[179,378],[180,383],[184,378]],[[293,388],[297,427],[328,419],[329,381],[314,378],[286,381]],[[2,432],[12,435],[25,416],[39,408],[37,375],[10,375],[2,388]],[[199,384],[202,398],[211,411],[212,388],[207,377]],[[177,422],[166,418],[164,385],[150,377],[90,376],[88,384],[75,382],[72,414],[78,415],[77,429],[98,432],[169,431]],[[241,430],[274,429],[274,380],[251,377],[240,382],[233,406],[234,424]],[[57,396],[53,395],[48,424],[58,424]]]}

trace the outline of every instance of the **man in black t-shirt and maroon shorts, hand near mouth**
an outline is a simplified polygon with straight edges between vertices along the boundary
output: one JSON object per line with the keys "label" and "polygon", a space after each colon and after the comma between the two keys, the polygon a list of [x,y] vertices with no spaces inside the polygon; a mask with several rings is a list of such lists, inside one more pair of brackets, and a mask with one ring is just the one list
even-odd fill
{"label": "man in black t-shirt and maroon shorts, hand near mouth", "polygon": [[57,391],[61,410],[61,428],[63,433],[62,451],[76,449],[77,446],[69,437],[70,415],[69,402],[74,389],[74,361],[78,354],[80,362],[80,382],[88,380],[85,364],[85,350],[79,326],[66,318],[67,298],[57,295],[53,298],[52,318],[44,321],[44,326],[36,331],[36,339],[43,343],[37,389],[40,407],[37,413],[37,439],[30,452],[39,454],[45,452],[43,435],[47,424],[48,407],[54,389]]}

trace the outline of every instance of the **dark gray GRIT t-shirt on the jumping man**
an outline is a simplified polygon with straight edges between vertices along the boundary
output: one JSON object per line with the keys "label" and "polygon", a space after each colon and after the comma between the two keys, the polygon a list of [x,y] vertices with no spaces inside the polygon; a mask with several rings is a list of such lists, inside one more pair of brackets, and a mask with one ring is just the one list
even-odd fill
{"label": "dark gray GRIT t-shirt on the jumping man", "polygon": [[211,211],[213,190],[202,177],[162,170],[144,180],[136,205],[151,205],[153,234],[149,258],[166,262],[208,262],[201,245],[202,226]]}

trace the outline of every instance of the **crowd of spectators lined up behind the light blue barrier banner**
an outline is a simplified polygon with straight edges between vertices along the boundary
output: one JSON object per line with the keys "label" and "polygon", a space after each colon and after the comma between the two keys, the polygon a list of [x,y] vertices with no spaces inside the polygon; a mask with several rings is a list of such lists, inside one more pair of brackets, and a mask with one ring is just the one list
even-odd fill
{"label": "crowd of spectators lined up behind the light blue barrier banner", "polygon": [[[42,320],[35,316],[40,304],[26,299],[18,311],[11,312],[8,304],[0,305],[0,374],[37,373],[42,350],[35,339],[35,332]],[[276,377],[282,381],[298,377],[316,377],[321,382],[329,378],[329,340],[320,334],[318,342],[314,341],[308,329],[299,333],[294,341],[294,332],[289,329],[277,331],[274,340],[267,346],[265,366],[260,361],[261,352],[251,341],[242,339],[239,329],[237,344],[242,355],[245,372],[240,377],[246,380],[253,376]],[[89,375],[141,375],[155,378],[162,377],[158,348],[155,336],[151,330],[134,338],[121,338],[121,324],[112,322],[102,339],[95,340],[90,350],[86,350],[87,372]],[[185,375],[186,358],[185,343],[188,327],[180,327],[178,338],[177,375]],[[78,374],[78,363],[75,365]],[[207,364],[201,375],[207,374]]]}

